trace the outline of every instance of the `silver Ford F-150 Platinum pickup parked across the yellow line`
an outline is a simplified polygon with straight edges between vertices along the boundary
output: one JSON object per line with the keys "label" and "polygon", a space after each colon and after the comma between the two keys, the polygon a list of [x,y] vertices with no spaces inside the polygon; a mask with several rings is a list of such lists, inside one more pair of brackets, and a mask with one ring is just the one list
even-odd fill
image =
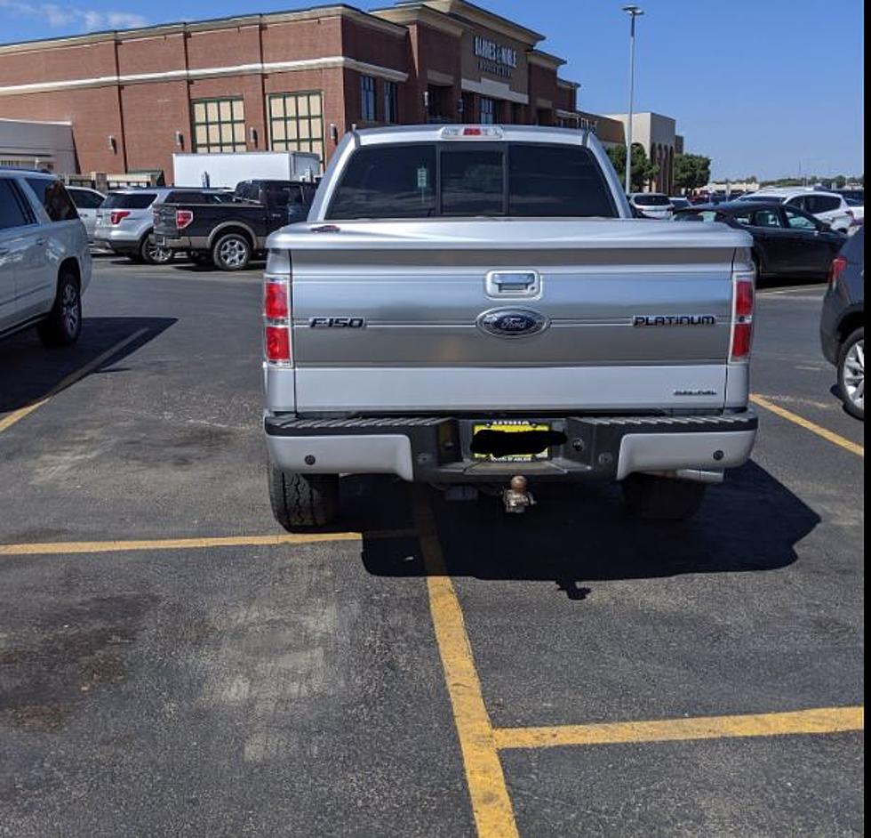
{"label": "silver Ford F-150 Platinum pickup parked across the yellow line", "polygon": [[308,222],[268,239],[276,519],[319,526],[341,474],[454,496],[619,480],[683,519],[747,460],[755,274],[721,224],[634,219],[591,133],[348,133]]}

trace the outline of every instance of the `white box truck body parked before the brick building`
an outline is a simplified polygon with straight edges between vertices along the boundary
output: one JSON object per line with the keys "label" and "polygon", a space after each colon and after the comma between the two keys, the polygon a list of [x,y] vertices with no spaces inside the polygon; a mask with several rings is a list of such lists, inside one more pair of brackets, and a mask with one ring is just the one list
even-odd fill
{"label": "white box truck body parked before the brick building", "polygon": [[314,181],[321,158],[307,151],[173,154],[175,186],[236,189],[241,181]]}

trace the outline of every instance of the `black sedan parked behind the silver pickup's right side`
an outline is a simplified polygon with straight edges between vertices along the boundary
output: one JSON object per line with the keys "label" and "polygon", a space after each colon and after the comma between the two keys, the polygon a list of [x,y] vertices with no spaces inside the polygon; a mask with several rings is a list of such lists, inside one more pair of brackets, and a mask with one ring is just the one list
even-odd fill
{"label": "black sedan parked behind the silver pickup's right side", "polygon": [[675,221],[723,222],[747,230],[760,278],[825,278],[846,238],[813,215],[776,203],[703,204],[676,213]]}

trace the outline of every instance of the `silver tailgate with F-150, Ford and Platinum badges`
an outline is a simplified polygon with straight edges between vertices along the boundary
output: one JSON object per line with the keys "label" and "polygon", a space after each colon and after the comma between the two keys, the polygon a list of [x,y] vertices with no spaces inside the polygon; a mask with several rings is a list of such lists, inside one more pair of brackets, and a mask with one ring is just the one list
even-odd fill
{"label": "silver tailgate with F-150, Ford and Platinum badges", "polygon": [[740,231],[552,219],[326,230],[273,239],[292,252],[300,413],[723,407]]}

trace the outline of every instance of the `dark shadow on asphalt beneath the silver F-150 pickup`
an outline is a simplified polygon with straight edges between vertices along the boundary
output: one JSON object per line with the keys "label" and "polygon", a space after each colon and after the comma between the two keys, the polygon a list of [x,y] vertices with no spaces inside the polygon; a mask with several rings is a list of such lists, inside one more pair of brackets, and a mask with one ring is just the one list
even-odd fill
{"label": "dark shadow on asphalt beneath the silver F-150 pickup", "polygon": [[[511,516],[498,497],[447,503],[428,490],[451,576],[550,580],[572,600],[584,599],[590,589],[583,584],[593,581],[782,568],[820,520],[752,462],[712,487],[699,514],[683,524],[635,520],[619,495],[613,486],[539,487],[538,504]],[[419,545],[412,560],[407,540],[369,539],[361,530],[369,573],[428,575]]]}

